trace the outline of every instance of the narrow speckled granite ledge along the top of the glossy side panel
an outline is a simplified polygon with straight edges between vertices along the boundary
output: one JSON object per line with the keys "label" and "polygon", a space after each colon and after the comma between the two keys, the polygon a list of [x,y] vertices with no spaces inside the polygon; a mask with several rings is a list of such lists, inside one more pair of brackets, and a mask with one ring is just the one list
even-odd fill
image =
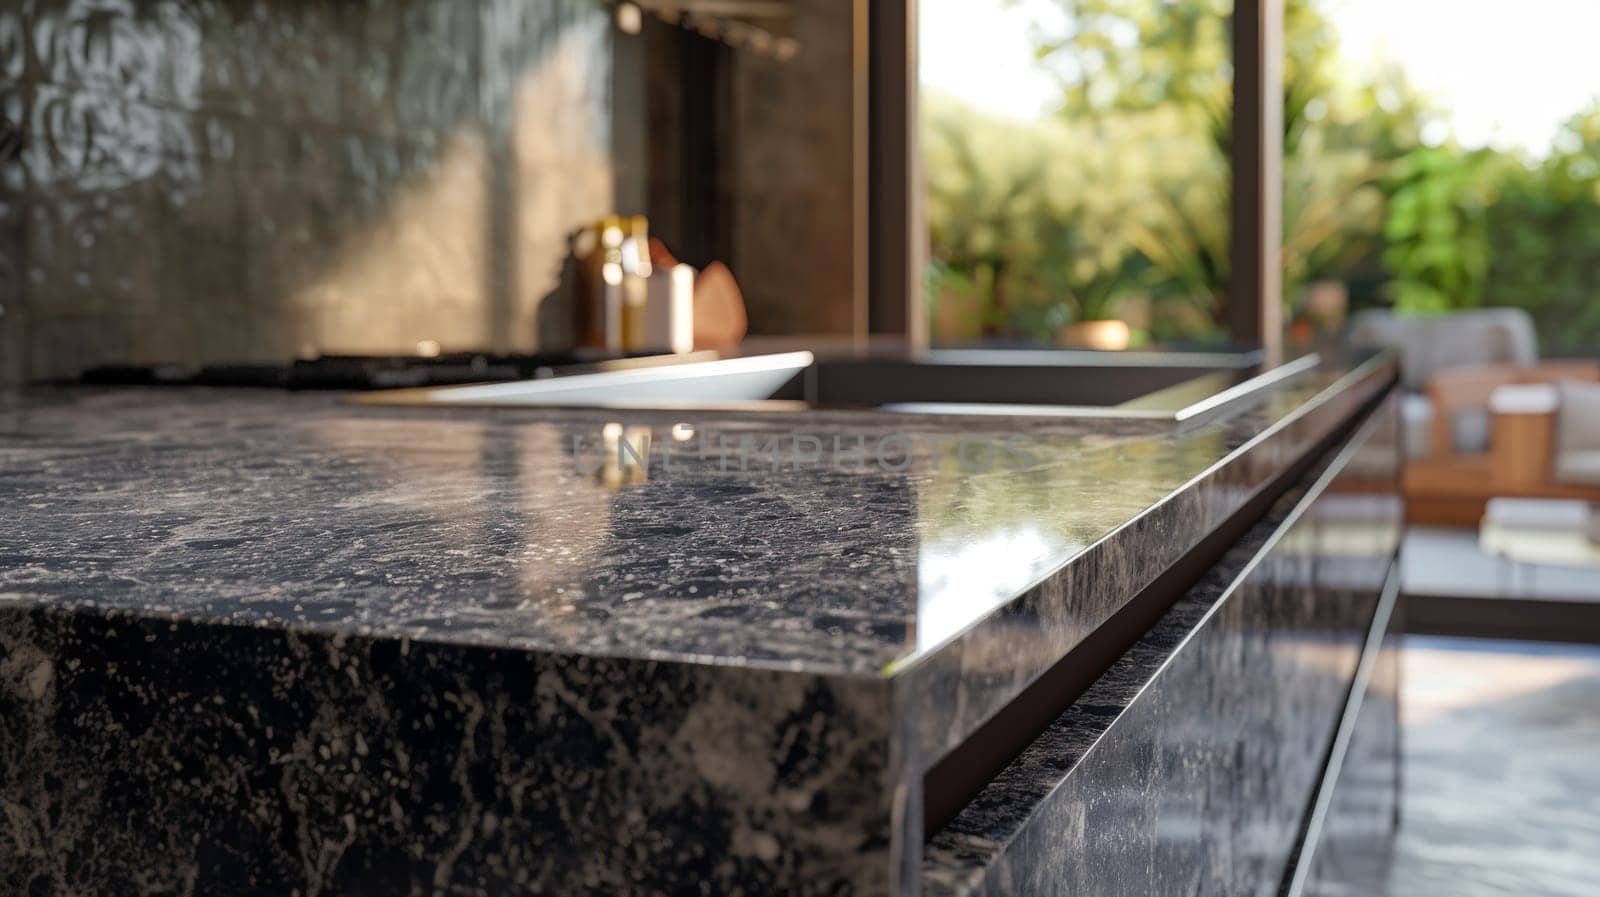
{"label": "narrow speckled granite ledge along the top of the glossy side panel", "polygon": [[[1123,712],[1160,680],[1184,648],[1221,612],[1251,572],[1259,569],[1266,553],[1306,516],[1346,462],[1360,451],[1363,438],[1379,425],[1376,417],[1365,421],[1346,446],[1318,460],[1306,478],[1278,497],[1272,510],[1224,555],[1206,579],[1187,590],[1150,632],[1072,702],[1045,736],[1013,759],[950,823],[931,835],[923,849],[922,868],[925,876],[938,868],[942,878],[933,894],[976,891],[989,863],[1006,852],[1050,795],[1098,750]],[[1058,751],[1046,758],[1042,745],[1051,745]],[[1013,806],[1019,796],[1029,801],[1022,812]],[[997,814],[992,807],[998,806],[1008,809]],[[1003,831],[971,835],[986,823],[994,825],[997,815],[1005,817]]]}

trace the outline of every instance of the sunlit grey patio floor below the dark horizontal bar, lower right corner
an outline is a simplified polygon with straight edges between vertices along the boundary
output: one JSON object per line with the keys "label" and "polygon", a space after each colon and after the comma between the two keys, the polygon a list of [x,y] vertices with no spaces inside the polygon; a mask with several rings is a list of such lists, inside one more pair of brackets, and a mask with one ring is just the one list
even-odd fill
{"label": "sunlit grey patio floor below the dark horizontal bar, lower right corner", "polygon": [[1600,894],[1600,646],[1410,636],[1389,897]]}

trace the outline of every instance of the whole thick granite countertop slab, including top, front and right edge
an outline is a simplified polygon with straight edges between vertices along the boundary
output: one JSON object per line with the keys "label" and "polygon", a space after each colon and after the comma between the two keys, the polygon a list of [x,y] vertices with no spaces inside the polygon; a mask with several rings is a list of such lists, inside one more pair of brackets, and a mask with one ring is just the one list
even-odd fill
{"label": "whole thick granite countertop slab, including top, front and right edge", "polygon": [[[586,472],[574,438],[614,416],[3,393],[0,881],[914,892],[925,766],[1390,377],[1333,366],[1184,429],[698,422],[822,440],[776,470]],[[1030,464],[963,467],[974,433]],[[851,456],[896,435],[904,467]],[[85,788],[72,822],[27,790],[51,777]],[[163,788],[170,822],[131,827]],[[598,798],[550,803],[574,790]],[[229,847],[197,844],[219,819]],[[45,886],[42,855],[166,878]]]}

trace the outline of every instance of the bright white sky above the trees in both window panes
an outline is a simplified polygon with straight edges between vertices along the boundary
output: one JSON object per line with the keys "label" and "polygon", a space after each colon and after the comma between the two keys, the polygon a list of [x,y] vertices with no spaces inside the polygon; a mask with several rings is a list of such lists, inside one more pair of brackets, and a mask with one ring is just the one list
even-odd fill
{"label": "bright white sky above the trees in both window panes", "polygon": [[[1322,0],[1346,56],[1398,59],[1451,110],[1466,146],[1542,155],[1560,123],[1600,99],[1600,0]],[[974,14],[974,10],[981,10]],[[1032,118],[1054,82],[1034,62],[1029,22],[1054,0],[922,0],[923,83]],[[1048,21],[1048,19],[1046,19]]]}

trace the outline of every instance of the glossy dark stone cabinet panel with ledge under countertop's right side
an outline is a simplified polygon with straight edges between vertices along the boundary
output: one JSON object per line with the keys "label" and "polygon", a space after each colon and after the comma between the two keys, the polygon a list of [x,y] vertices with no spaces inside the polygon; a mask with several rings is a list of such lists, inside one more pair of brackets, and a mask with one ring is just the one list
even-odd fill
{"label": "glossy dark stone cabinet panel with ledge under countertop's right side", "polygon": [[1398,547],[1394,414],[1381,405],[933,836],[925,894],[1277,894]]}

